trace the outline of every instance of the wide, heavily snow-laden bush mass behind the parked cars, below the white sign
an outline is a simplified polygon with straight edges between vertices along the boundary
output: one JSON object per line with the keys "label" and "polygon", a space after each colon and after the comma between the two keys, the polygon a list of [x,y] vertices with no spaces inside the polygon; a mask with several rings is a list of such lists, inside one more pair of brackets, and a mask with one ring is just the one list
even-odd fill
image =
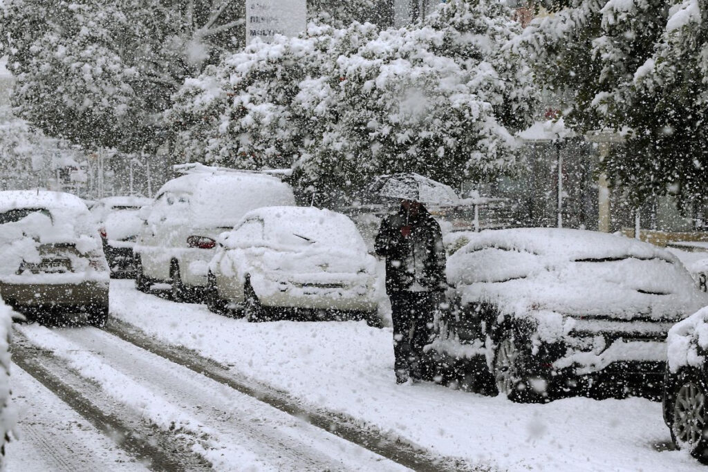
{"label": "wide, heavily snow-laden bush mass behind the parked cars, below the white sign", "polygon": [[[456,184],[515,163],[537,104],[520,34],[491,0],[442,4],[400,30],[311,23],[188,79],[166,117],[185,159],[294,166],[301,186],[353,190],[416,171]],[[207,149],[202,151],[206,143]]]}

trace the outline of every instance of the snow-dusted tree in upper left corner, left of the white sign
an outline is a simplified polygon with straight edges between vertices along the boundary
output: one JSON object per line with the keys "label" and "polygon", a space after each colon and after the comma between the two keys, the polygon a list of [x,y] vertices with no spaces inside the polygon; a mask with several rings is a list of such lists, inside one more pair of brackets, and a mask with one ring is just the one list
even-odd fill
{"label": "snow-dusted tree in upper left corner, left of the white sign", "polygon": [[142,149],[183,79],[241,45],[243,18],[236,0],[8,0],[13,103],[50,136]]}

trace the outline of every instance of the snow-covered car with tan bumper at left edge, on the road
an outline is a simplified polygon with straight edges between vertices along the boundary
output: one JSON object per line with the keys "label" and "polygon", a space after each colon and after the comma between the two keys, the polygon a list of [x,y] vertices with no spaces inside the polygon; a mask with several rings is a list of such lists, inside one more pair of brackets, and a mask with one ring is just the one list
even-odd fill
{"label": "snow-covered car with tan bumper at left edge, on the road", "polygon": [[0,296],[7,304],[38,316],[83,311],[103,326],[108,281],[98,227],[79,197],[0,192]]}

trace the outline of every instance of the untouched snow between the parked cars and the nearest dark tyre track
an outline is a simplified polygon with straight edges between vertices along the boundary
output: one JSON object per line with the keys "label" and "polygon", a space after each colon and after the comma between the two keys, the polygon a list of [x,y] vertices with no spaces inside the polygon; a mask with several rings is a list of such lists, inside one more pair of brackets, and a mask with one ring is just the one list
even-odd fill
{"label": "untouched snow between the parked cars and the nearest dark tyre track", "polygon": [[[247,323],[111,282],[113,316],[235,371],[445,456],[510,471],[702,471],[666,451],[661,404],[567,398],[518,405],[433,384],[397,386],[392,333],[365,323]],[[660,451],[662,450],[662,451]]]}

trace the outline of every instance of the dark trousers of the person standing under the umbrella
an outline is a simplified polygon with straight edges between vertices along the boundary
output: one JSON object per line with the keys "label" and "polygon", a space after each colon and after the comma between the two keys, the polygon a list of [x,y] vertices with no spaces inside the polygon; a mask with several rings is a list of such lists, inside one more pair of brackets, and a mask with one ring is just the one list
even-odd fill
{"label": "dark trousers of the person standing under the umbrella", "polygon": [[421,378],[423,347],[433,333],[433,313],[440,298],[435,292],[389,294],[394,325],[394,369],[400,380]]}

